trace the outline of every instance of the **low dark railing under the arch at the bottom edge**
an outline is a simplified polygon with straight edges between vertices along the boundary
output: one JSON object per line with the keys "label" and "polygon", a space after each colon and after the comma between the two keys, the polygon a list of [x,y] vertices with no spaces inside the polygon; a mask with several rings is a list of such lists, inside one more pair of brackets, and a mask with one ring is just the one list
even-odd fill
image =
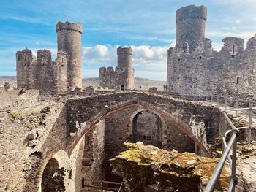
{"label": "low dark railing under the arch at the bottom edge", "polygon": [[[91,182],[94,184],[89,185],[89,184],[86,184],[85,182]],[[104,184],[107,184],[107,186],[105,186]],[[111,187],[108,185],[111,185]],[[112,181],[106,181],[106,180],[88,180],[88,179],[83,178],[82,179],[82,188],[85,188],[85,187],[97,188],[100,191],[108,190],[108,191],[121,192],[121,191],[123,191],[124,185],[123,185],[123,183],[118,183],[118,182],[112,182]]]}

